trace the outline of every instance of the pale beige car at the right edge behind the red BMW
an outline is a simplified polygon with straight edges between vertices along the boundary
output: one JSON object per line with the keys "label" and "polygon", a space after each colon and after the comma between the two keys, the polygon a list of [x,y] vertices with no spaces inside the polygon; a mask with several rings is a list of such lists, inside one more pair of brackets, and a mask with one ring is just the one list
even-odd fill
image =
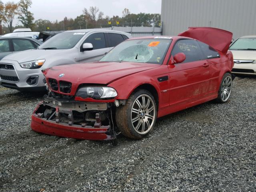
{"label": "pale beige car at the right edge behind the red BMW", "polygon": [[234,56],[234,74],[256,75],[256,35],[236,39],[229,50]]}

